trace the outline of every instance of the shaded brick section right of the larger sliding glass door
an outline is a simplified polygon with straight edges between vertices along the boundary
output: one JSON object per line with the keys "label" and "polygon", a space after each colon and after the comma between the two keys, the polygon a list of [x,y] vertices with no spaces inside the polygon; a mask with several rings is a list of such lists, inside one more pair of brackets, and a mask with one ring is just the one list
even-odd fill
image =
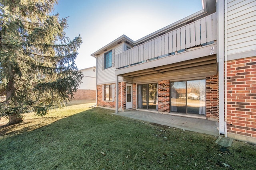
{"label": "shaded brick section right of the larger sliding glass door", "polygon": [[218,75],[206,77],[206,118],[218,120]]}

